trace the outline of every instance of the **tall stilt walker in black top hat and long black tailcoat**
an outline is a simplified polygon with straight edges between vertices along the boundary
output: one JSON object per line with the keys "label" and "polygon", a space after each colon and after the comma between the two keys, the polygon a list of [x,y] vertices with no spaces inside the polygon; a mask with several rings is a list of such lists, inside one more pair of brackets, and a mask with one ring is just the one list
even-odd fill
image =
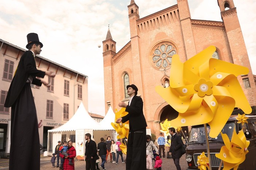
{"label": "tall stilt walker in black top hat and long black tailcoat", "polygon": [[40,54],[43,47],[38,35],[29,33],[27,40],[29,50],[20,57],[4,104],[6,108],[12,107],[9,170],[40,169],[38,120],[30,84],[49,87],[49,82],[36,77],[56,75],[36,69],[35,55]]}

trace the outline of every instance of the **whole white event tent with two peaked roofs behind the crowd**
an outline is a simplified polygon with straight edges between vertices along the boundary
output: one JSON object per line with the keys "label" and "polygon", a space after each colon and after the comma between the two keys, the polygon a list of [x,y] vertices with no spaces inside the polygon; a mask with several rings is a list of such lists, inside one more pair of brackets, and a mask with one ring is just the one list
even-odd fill
{"label": "whole white event tent with two peaked roofs behind the crowd", "polygon": [[100,142],[101,137],[106,139],[110,136],[111,139],[115,139],[116,133],[111,126],[111,122],[114,121],[115,114],[110,108],[104,119],[100,123],[96,122],[81,102],[77,112],[68,122],[59,128],[48,130],[47,155],[54,153],[58,141],[71,140],[76,148],[77,159],[84,159],[84,135],[90,133],[96,143]]}

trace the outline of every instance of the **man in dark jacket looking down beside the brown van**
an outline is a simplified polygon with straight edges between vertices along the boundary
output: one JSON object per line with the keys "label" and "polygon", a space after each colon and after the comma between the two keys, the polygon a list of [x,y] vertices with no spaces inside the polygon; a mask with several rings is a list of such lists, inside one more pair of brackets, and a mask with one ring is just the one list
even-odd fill
{"label": "man in dark jacket looking down beside the brown van", "polygon": [[181,147],[183,142],[181,137],[175,133],[174,128],[169,128],[169,133],[171,134],[171,146],[169,153],[171,154],[177,170],[181,170],[181,166],[179,165],[179,158],[181,158]]}

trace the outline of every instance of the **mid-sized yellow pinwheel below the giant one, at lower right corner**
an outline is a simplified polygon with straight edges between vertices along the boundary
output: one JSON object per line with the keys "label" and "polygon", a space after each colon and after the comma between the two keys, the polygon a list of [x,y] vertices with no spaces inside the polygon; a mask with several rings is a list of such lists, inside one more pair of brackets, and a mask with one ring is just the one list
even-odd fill
{"label": "mid-sized yellow pinwheel below the giant one, at lower right corner", "polygon": [[244,162],[245,155],[249,152],[250,141],[246,140],[243,130],[236,134],[236,129],[234,129],[231,141],[229,141],[228,135],[221,133],[221,136],[225,146],[222,146],[220,153],[215,155],[223,161],[223,170],[232,168],[237,170],[239,164]]}

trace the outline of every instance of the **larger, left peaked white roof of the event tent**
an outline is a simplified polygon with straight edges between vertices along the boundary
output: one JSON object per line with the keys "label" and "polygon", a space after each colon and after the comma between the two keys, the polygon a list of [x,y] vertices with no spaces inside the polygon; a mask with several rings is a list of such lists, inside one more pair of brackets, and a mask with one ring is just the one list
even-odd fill
{"label": "larger, left peaked white roof of the event tent", "polygon": [[77,129],[102,130],[100,124],[90,117],[82,102],[77,112],[75,112],[74,116],[68,122],[59,128],[48,130],[48,132],[72,131]]}

